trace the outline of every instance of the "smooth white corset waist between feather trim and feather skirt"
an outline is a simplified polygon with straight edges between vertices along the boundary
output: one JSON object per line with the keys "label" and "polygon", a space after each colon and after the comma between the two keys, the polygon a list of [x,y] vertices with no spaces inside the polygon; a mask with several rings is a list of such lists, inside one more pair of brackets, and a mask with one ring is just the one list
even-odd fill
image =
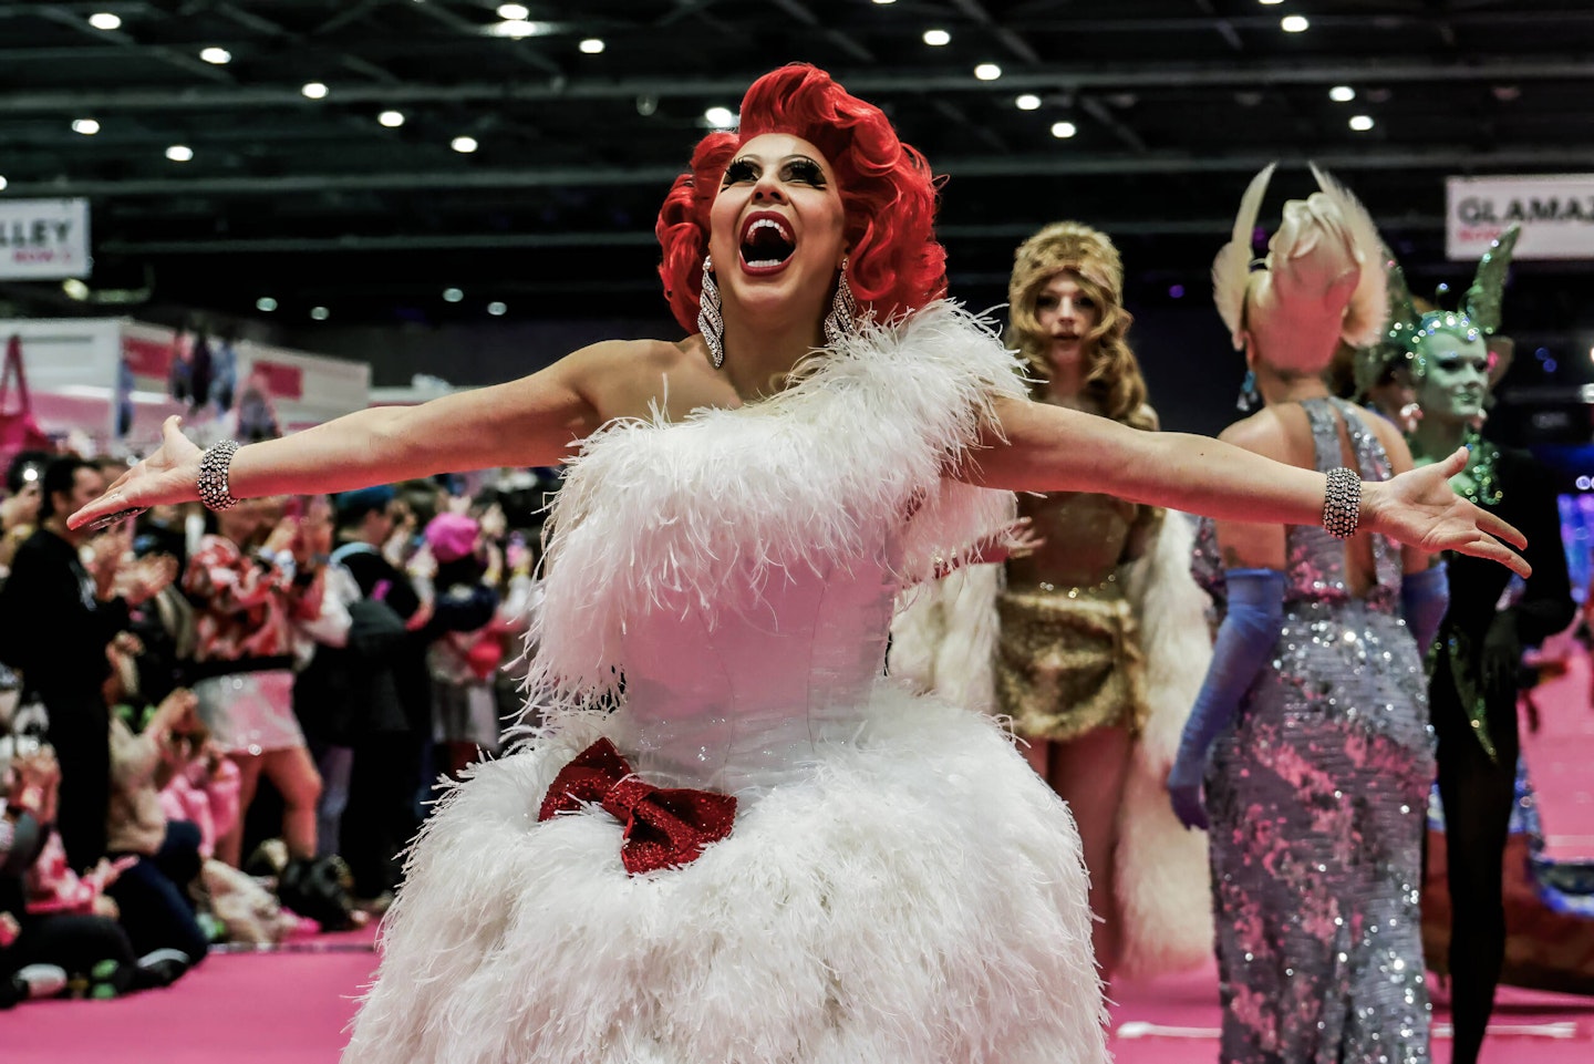
{"label": "smooth white corset waist between feather trim and feather skirt", "polygon": [[655,608],[620,636],[634,764],[756,794],[846,742],[881,676],[896,579],[861,560],[770,569],[744,603]]}

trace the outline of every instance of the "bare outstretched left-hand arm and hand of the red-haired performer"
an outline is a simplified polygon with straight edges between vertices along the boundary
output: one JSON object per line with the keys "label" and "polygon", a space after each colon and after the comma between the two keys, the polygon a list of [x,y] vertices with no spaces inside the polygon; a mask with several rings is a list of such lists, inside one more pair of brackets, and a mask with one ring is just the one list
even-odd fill
{"label": "bare outstretched left-hand arm and hand of the red-haired performer", "polygon": [[[555,466],[601,424],[599,410],[638,381],[647,341],[606,341],[507,384],[443,396],[419,407],[373,407],[250,443],[233,458],[236,498],[325,495],[438,472]],[[657,378],[655,378],[657,380]],[[642,407],[646,408],[646,405]],[[124,509],[198,496],[199,448],[167,418],[161,448],[72,515],[73,528]]]}

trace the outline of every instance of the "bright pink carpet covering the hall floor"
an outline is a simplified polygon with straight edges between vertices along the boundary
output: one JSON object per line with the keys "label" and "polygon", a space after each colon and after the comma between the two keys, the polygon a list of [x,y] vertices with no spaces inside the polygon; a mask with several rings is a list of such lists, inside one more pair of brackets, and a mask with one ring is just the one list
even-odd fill
{"label": "bright pink carpet covering the hall floor", "polygon": [[[1524,737],[1551,853],[1594,853],[1594,710],[1589,665],[1545,684],[1543,723]],[[223,954],[169,991],[115,1002],[35,1002],[0,1013],[5,1064],[336,1064],[355,995],[375,968],[371,932],[317,940],[328,952]],[[1213,971],[1114,987],[1119,1064],[1197,1064],[1218,1056]],[[1449,1061],[1443,992],[1435,1061]],[[1594,999],[1503,987],[1486,1064],[1589,1064]]]}

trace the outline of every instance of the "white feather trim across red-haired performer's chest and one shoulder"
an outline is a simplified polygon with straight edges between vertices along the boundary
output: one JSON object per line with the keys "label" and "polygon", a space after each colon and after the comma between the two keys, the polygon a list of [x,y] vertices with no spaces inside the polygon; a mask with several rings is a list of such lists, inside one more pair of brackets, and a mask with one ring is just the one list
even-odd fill
{"label": "white feather trim across red-haired performer's chest and one shoulder", "polygon": [[553,504],[528,689],[612,694],[620,635],[657,613],[744,601],[799,566],[893,558],[904,585],[1007,520],[1011,495],[950,477],[999,396],[1023,396],[995,329],[948,301],[816,353],[771,399],[588,437]]}

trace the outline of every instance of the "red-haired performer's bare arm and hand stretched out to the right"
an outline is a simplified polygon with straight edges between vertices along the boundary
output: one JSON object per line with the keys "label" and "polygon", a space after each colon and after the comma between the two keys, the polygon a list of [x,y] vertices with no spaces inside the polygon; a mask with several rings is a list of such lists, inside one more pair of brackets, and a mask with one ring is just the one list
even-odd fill
{"label": "red-haired performer's bare arm and hand stretched out to the right", "polygon": [[[1320,525],[1325,477],[1205,435],[1140,432],[1078,410],[1001,399],[960,475],[1012,491],[1100,491],[1219,520]],[[1457,496],[1449,485],[1466,464],[1447,461],[1393,480],[1361,485],[1361,528],[1430,554],[1460,550],[1527,574],[1519,531]],[[1498,539],[1497,539],[1498,536]]]}

